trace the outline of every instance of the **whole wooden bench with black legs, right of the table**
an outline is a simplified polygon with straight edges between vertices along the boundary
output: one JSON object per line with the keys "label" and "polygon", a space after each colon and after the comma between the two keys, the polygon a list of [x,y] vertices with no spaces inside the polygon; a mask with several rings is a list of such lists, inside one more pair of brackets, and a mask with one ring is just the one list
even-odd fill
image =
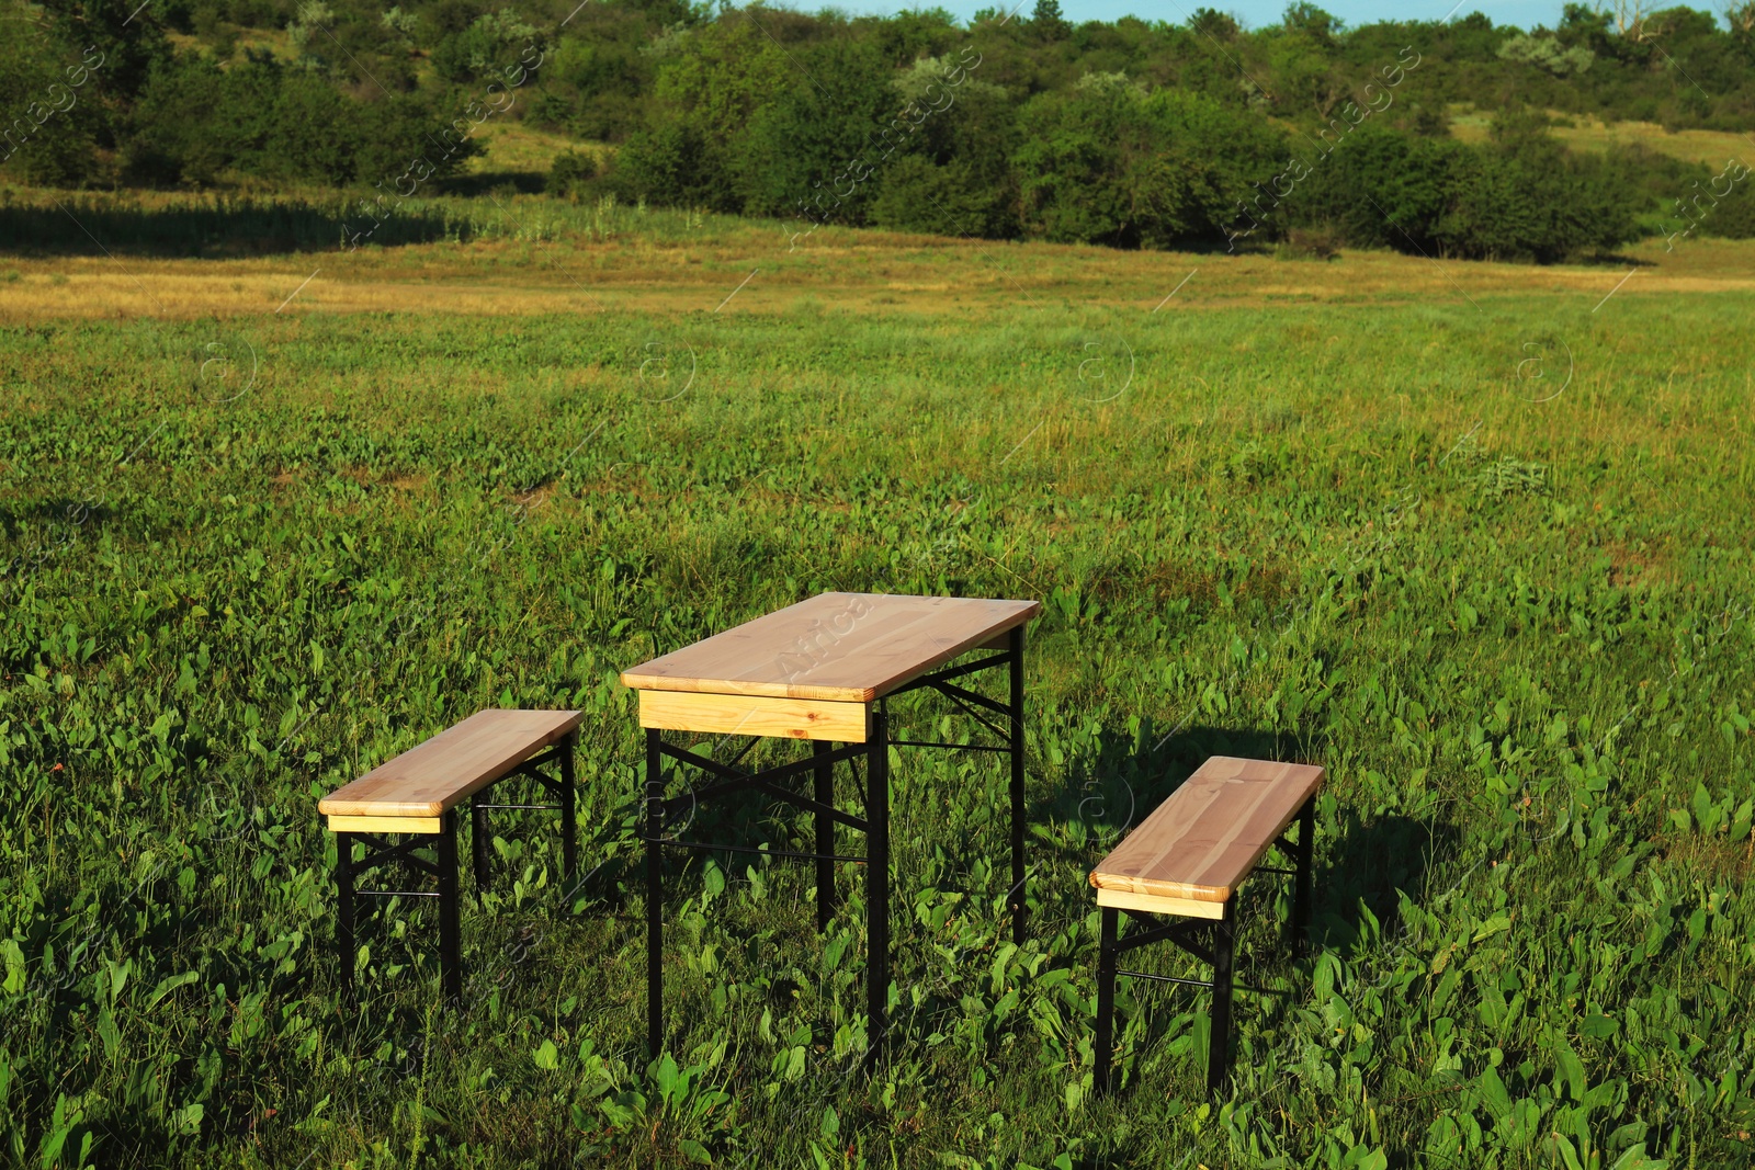
{"label": "whole wooden bench with black legs, right of the table", "polygon": [[[1288,935],[1295,951],[1302,947],[1309,930],[1314,800],[1322,777],[1322,768],[1306,763],[1213,756],[1092,870],[1097,905],[1102,907],[1102,942],[1097,952],[1099,1093],[1109,1089],[1116,975],[1213,989],[1207,1088],[1216,1091],[1223,1086],[1230,1051],[1237,886],[1258,868],[1295,877]],[[1295,842],[1285,838],[1292,821],[1299,821]],[[1292,856],[1295,868],[1257,865],[1274,845]],[[1118,940],[1121,912],[1139,917],[1146,930]],[[1151,916],[1193,921],[1162,924]],[[1195,937],[1207,930],[1211,938],[1202,947]],[[1160,940],[1174,942],[1211,963],[1213,979],[1171,979],[1116,968],[1116,956],[1123,951]]]}

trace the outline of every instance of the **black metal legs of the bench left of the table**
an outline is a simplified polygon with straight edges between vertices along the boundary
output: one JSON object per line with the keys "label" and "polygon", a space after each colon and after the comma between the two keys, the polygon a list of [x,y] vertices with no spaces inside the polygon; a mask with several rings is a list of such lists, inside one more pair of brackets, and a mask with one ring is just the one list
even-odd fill
{"label": "black metal legs of the bench left of the table", "polygon": [[[579,828],[577,802],[574,798],[574,751],[579,744],[579,730],[567,731],[548,751],[523,760],[495,779],[488,781],[469,798],[470,814],[470,851],[474,854],[476,898],[488,888],[488,812],[493,809],[558,809],[560,810],[560,847],[562,868],[567,881],[574,881],[579,867]],[[539,768],[560,765],[560,775],[546,775]],[[493,788],[514,775],[537,781],[555,796],[555,803],[490,803],[486,798]],[[456,861],[456,821],[460,809],[446,809],[439,817],[437,833],[404,833],[404,840],[391,842],[377,833],[335,833],[335,886],[339,893],[339,916],[335,923],[335,951],[340,958],[340,989],[347,1003],[355,1003],[353,968],[360,954],[355,931],[355,898],[437,898],[439,900],[439,982],[444,1000],[462,1007],[463,1002],[463,956],[462,956],[462,909],[458,905],[458,861]],[[437,854],[432,861],[416,856],[416,849],[428,845]],[[365,845],[365,856],[355,860],[355,844]],[[400,861],[412,875],[435,879],[437,889],[358,889],[356,882],[370,870]]]}

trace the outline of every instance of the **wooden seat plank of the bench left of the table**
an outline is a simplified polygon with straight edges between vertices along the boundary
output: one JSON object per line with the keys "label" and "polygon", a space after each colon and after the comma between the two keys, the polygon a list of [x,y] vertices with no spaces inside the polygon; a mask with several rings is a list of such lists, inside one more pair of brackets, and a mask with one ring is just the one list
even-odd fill
{"label": "wooden seat plank of the bench left of the table", "polygon": [[584,719],[581,710],[477,710],[318,802],[323,816],[437,817]]}

